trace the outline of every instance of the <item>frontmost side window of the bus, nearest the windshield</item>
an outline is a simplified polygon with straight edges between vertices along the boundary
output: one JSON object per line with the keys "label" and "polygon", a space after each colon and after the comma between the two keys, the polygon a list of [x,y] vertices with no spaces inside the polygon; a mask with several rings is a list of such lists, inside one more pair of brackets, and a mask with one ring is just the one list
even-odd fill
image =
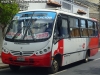
{"label": "frontmost side window of the bus, nearest the windshield", "polygon": [[55,27],[55,33],[58,37],[62,37],[62,38],[69,37],[67,18],[63,18],[62,16],[58,15],[56,27]]}

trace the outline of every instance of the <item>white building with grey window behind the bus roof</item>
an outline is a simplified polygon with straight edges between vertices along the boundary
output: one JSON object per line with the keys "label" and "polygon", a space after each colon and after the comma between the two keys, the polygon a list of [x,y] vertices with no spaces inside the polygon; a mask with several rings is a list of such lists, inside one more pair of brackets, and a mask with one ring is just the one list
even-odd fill
{"label": "white building with grey window behind the bus roof", "polygon": [[[42,1],[42,0],[41,0]],[[52,3],[57,4],[59,7],[59,10],[67,11],[70,13],[78,14],[78,10],[83,10],[86,12],[85,15],[89,17],[89,8],[85,5],[80,5],[78,3],[75,3],[74,0],[48,0],[47,3],[29,3],[28,10],[31,9],[45,9],[45,8],[55,8],[53,4],[50,4],[49,2],[52,1]]]}

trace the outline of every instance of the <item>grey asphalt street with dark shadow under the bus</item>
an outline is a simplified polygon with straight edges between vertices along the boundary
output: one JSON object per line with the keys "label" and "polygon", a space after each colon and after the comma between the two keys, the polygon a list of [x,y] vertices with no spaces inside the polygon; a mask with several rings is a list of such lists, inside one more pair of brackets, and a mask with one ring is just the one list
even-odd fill
{"label": "grey asphalt street with dark shadow under the bus", "polygon": [[88,63],[76,62],[60,68],[55,74],[48,74],[43,68],[21,67],[18,72],[1,69],[0,75],[100,75],[100,52],[91,57]]}

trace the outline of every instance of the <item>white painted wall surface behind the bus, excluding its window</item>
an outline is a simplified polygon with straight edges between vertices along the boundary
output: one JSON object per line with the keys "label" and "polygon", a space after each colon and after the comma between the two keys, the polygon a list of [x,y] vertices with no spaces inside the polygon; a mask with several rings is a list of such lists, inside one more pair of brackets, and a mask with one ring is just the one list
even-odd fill
{"label": "white painted wall surface behind the bus, excluding its window", "polygon": [[[70,2],[65,1],[65,0],[55,0],[55,1],[57,1],[60,4],[62,4],[62,2],[66,2],[66,3],[71,5],[71,9],[70,10],[67,9],[68,7],[66,7],[66,9],[65,9],[62,6],[61,10],[63,10],[63,11],[67,11],[67,12],[71,12],[71,13],[77,14],[78,9],[81,9],[81,10],[83,10],[83,11],[85,11],[87,13],[84,16],[89,17],[89,8],[87,8],[87,7],[82,7],[80,5],[76,5],[76,4],[70,3]],[[31,9],[46,9],[46,8],[55,8],[55,7],[48,6],[46,3],[29,3],[28,10],[31,10]]]}

